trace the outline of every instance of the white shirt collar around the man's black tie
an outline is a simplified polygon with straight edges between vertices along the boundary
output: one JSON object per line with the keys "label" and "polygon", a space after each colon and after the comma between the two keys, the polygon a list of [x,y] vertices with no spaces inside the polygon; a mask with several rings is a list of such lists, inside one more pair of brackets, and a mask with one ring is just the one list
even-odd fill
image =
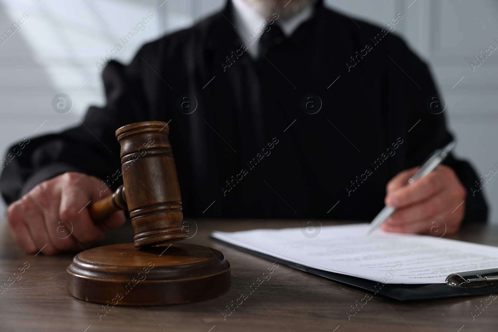
{"label": "white shirt collar around the man's black tie", "polygon": [[[258,29],[263,29],[262,26],[264,23],[268,24],[266,18],[261,15],[256,9],[254,9],[249,3],[244,0],[232,0],[234,4],[234,19],[236,31],[239,37],[245,42],[245,45],[248,47],[247,52],[249,55],[255,59],[257,58],[258,50],[259,50],[259,38],[257,38],[254,42],[253,35],[256,34]],[[313,5],[308,5],[303,10],[301,10],[298,14],[283,20],[282,18],[278,18],[274,20],[273,24],[278,24],[278,26],[282,29],[282,32],[285,36],[290,36],[297,29],[297,27],[311,18],[313,15]],[[250,39],[252,37],[252,40]],[[252,44],[251,44],[252,43]]]}

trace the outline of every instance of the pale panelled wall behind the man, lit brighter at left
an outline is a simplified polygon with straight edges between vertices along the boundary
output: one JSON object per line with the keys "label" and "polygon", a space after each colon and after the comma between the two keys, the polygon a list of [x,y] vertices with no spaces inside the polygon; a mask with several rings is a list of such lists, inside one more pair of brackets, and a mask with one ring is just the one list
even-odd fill
{"label": "pale panelled wall behind the man, lit brighter at left", "polygon": [[[29,15],[20,25],[21,30],[0,46],[1,153],[19,138],[77,124],[90,105],[103,105],[101,73],[95,62],[120,43],[119,39],[147,13],[154,18],[115,59],[129,62],[143,43],[190,26],[222,10],[225,3],[225,0],[163,1],[0,0],[0,32],[7,31],[22,13]],[[448,126],[458,141],[457,155],[470,159],[479,175],[495,167],[498,96],[493,92],[498,88],[498,52],[493,52],[474,72],[469,62],[491,43],[498,46],[493,40],[498,39],[496,0],[325,2],[339,12],[344,10],[352,19],[362,18],[381,25],[401,12],[403,19],[394,33],[402,36],[430,64],[448,104],[445,112]],[[70,112],[53,111],[51,101],[58,93],[65,93],[73,100]],[[498,180],[492,179],[483,190],[491,205],[491,220],[498,222]],[[0,205],[0,213],[3,210]]]}

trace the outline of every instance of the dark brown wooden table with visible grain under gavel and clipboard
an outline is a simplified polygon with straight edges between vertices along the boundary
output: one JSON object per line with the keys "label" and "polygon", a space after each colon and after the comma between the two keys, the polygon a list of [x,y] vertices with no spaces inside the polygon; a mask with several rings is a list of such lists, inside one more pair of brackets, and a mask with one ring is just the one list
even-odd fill
{"label": "dark brown wooden table with visible grain under gavel and clipboard", "polygon": [[[185,240],[221,250],[232,264],[232,287],[216,299],[167,307],[114,307],[99,320],[101,305],[66,293],[66,267],[74,253],[26,255],[0,220],[0,282],[28,262],[22,279],[0,295],[0,331],[497,331],[498,299],[473,320],[476,305],[489,296],[398,302],[373,296],[351,320],[346,312],[365,292],[280,265],[242,305],[224,319],[232,300],[271,267],[270,261],[209,240],[212,230],[302,226],[302,221],[197,220],[198,231]],[[322,222],[322,224],[335,224]],[[451,238],[497,245],[497,226],[466,227]],[[105,244],[131,242],[130,225],[115,230]],[[497,291],[498,293],[498,291]],[[483,302],[481,302],[483,301]]]}

